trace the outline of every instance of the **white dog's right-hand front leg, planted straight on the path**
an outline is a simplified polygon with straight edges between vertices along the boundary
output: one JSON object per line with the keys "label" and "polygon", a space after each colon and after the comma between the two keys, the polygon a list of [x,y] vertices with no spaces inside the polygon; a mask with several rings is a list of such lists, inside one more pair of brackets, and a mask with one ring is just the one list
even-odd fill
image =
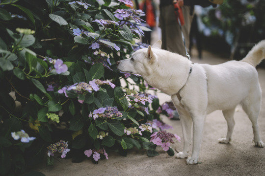
{"label": "white dog's right-hand front leg, planted straight on the path", "polygon": [[204,119],[206,115],[192,116],[193,121],[193,146],[191,157],[187,158],[187,164],[197,164],[202,143]]}

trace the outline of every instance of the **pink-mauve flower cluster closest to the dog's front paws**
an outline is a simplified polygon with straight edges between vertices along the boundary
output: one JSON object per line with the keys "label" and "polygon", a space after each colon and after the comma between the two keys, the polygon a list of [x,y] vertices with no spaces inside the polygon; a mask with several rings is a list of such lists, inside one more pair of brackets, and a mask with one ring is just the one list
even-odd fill
{"label": "pink-mauve flower cluster closest to the dog's front paws", "polygon": [[164,151],[168,151],[170,143],[174,144],[172,138],[176,138],[180,142],[180,136],[178,136],[177,134],[172,134],[166,131],[159,131],[151,135],[150,142],[153,142],[154,144],[161,146]]}

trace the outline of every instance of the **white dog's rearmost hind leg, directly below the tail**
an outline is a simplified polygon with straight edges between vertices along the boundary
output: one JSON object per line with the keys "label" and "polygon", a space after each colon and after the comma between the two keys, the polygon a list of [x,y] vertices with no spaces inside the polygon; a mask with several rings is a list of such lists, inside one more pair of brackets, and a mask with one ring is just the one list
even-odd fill
{"label": "white dog's rearmost hind leg, directly below the tail", "polygon": [[264,143],[262,142],[259,134],[259,126],[258,126],[258,116],[261,109],[261,88],[258,85],[259,89],[250,93],[247,98],[245,98],[241,105],[243,110],[247,113],[248,118],[252,122],[253,141],[255,146],[264,147]]}

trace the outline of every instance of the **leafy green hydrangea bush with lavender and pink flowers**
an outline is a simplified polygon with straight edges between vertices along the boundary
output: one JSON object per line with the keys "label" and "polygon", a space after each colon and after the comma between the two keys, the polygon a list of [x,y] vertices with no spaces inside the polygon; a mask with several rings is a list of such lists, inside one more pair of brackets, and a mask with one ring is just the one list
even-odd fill
{"label": "leafy green hydrangea bush with lavender and pink flowers", "polygon": [[127,5],[132,1],[0,1],[0,175],[43,160],[53,165],[55,157],[97,163],[133,147],[155,156],[159,145],[174,155],[170,143],[179,137],[164,131],[171,127],[159,119],[159,100],[145,93],[152,88],[116,68],[145,47],[135,43],[144,13]]}

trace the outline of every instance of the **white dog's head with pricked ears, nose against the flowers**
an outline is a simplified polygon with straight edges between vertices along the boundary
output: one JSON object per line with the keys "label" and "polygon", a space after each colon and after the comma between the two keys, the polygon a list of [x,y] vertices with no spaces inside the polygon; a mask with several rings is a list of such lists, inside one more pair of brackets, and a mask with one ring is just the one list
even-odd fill
{"label": "white dog's head with pricked ears, nose against the flowers", "polygon": [[135,51],[131,58],[118,61],[117,68],[123,72],[148,76],[158,62],[158,56],[153,50],[154,48],[160,49],[161,44],[162,42],[159,40],[152,46],[149,45],[148,48],[142,48]]}

